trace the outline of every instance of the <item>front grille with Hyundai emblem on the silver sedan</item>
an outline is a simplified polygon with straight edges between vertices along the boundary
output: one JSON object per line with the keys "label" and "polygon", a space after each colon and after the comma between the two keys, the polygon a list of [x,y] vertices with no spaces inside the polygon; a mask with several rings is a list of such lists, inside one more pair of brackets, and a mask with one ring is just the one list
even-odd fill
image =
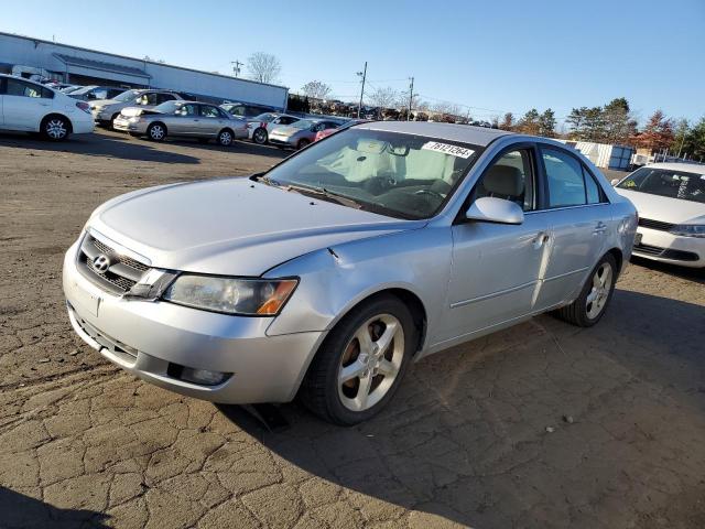
{"label": "front grille with Hyundai emblem on the silver sedan", "polygon": [[[95,264],[99,256],[109,259],[109,267],[100,271]],[[102,240],[87,234],[80,245],[77,258],[78,270],[95,284],[115,294],[124,294],[150,270],[137,259],[120,253]]]}

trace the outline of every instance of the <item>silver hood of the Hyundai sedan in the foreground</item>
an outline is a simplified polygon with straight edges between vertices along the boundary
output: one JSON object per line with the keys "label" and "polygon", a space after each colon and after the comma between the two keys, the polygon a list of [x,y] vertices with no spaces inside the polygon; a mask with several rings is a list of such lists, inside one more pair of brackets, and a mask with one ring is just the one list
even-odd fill
{"label": "silver hood of the Hyundai sedan in the foreground", "polygon": [[420,228],[243,177],[171,184],[113,198],[88,222],[153,267],[260,276],[311,251]]}

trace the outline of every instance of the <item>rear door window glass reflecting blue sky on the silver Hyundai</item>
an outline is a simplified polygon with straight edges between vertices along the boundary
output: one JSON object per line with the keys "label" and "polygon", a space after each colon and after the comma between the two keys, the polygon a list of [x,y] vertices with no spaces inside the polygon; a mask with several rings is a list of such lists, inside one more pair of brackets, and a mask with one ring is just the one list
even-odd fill
{"label": "rear door window glass reflecting blue sky on the silver Hyundai", "polygon": [[583,166],[567,152],[542,148],[549,182],[549,207],[581,206],[587,203]]}

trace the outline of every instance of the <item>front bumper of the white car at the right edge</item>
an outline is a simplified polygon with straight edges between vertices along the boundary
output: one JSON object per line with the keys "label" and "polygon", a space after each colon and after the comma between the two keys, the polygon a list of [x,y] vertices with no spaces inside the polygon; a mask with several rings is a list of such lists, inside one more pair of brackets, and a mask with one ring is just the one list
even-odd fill
{"label": "front bumper of the white car at the right edge", "polygon": [[639,226],[632,253],[637,257],[670,262],[681,267],[705,267],[705,239],[682,237],[669,231]]}

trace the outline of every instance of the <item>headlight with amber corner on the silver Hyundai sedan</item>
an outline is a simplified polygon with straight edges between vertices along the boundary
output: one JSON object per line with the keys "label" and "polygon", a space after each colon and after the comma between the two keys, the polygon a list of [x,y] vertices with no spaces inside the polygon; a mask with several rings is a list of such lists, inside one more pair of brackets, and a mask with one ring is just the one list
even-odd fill
{"label": "headlight with amber corner on the silver Hyundai sedan", "polygon": [[184,273],[166,289],[162,299],[225,314],[275,316],[296,284],[297,279],[240,279]]}

